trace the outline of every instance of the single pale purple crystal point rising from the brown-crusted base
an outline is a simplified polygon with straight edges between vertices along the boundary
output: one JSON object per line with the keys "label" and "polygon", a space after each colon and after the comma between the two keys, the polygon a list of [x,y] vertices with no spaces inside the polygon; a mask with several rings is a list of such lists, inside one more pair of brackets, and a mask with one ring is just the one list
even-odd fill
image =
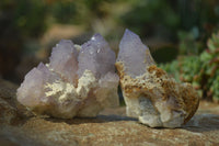
{"label": "single pale purple crystal point rising from the brown-crusted base", "polygon": [[125,71],[131,77],[145,74],[147,65],[154,64],[149,48],[137,34],[127,29],[119,44],[117,61],[125,64]]}

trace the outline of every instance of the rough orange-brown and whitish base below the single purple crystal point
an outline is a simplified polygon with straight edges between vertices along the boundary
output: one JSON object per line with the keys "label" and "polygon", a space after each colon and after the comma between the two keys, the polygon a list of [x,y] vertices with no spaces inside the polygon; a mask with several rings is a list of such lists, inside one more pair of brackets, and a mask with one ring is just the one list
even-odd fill
{"label": "rough orange-brown and whitish base below the single purple crystal point", "polygon": [[[124,66],[120,63],[116,63],[116,67],[123,68]],[[199,103],[199,96],[189,83],[177,83],[157,66],[150,66],[148,72],[138,78],[131,78],[122,70],[119,70],[119,76],[120,85],[124,89],[123,93],[126,98],[127,115],[139,117],[142,123],[152,127],[177,127],[188,122],[195,114]],[[140,100],[145,100],[145,98],[140,99],[141,97],[149,98],[149,101],[152,102],[151,108],[148,105],[148,109],[140,109]],[[137,103],[135,104],[136,100]],[[163,102],[163,105],[159,104],[159,102]],[[155,109],[154,111],[150,110],[153,109],[152,106]],[[154,121],[147,123],[143,120],[145,115],[142,115],[143,112],[146,112],[145,110],[151,111],[150,113],[154,112],[158,119],[159,116],[166,117],[166,114],[168,116],[171,115],[169,120],[163,120],[157,124]],[[165,110],[170,113],[162,113]],[[176,117],[175,121],[174,117],[172,117],[174,116],[172,112],[181,112],[180,119]],[[173,121],[175,122],[173,123]]]}

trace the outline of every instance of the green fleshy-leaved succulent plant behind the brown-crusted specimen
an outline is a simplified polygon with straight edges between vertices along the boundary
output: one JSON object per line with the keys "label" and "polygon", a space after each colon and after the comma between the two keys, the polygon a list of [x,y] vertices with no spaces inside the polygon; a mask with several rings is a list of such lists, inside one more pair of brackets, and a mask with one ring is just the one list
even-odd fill
{"label": "green fleshy-leaved succulent plant behind the brown-crusted specimen", "polygon": [[181,56],[160,67],[177,81],[191,82],[203,98],[219,102],[219,32],[212,34],[207,46],[199,56]]}

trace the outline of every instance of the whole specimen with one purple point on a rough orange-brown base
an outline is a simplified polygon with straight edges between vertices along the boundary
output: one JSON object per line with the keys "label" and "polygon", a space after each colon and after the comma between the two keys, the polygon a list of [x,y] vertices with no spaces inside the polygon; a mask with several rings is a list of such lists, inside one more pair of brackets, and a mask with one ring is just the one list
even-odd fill
{"label": "whole specimen with one purple point on a rough orange-brown base", "polygon": [[158,68],[138,35],[125,31],[116,68],[128,116],[151,127],[178,127],[196,112],[198,93]]}

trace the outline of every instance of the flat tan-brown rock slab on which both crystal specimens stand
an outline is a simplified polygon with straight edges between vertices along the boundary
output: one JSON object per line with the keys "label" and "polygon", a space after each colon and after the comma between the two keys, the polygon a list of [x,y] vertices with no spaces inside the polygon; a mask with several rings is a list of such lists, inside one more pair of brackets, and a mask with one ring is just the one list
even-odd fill
{"label": "flat tan-brown rock slab on which both crystal specimens stand", "polygon": [[[96,119],[35,117],[15,101],[15,89],[16,86],[0,81],[0,101],[5,103],[0,102],[0,144],[3,146],[219,144],[218,104],[200,102],[196,115],[181,128],[150,128],[125,116],[125,108],[106,109]],[[14,112],[8,114],[8,111]]]}

